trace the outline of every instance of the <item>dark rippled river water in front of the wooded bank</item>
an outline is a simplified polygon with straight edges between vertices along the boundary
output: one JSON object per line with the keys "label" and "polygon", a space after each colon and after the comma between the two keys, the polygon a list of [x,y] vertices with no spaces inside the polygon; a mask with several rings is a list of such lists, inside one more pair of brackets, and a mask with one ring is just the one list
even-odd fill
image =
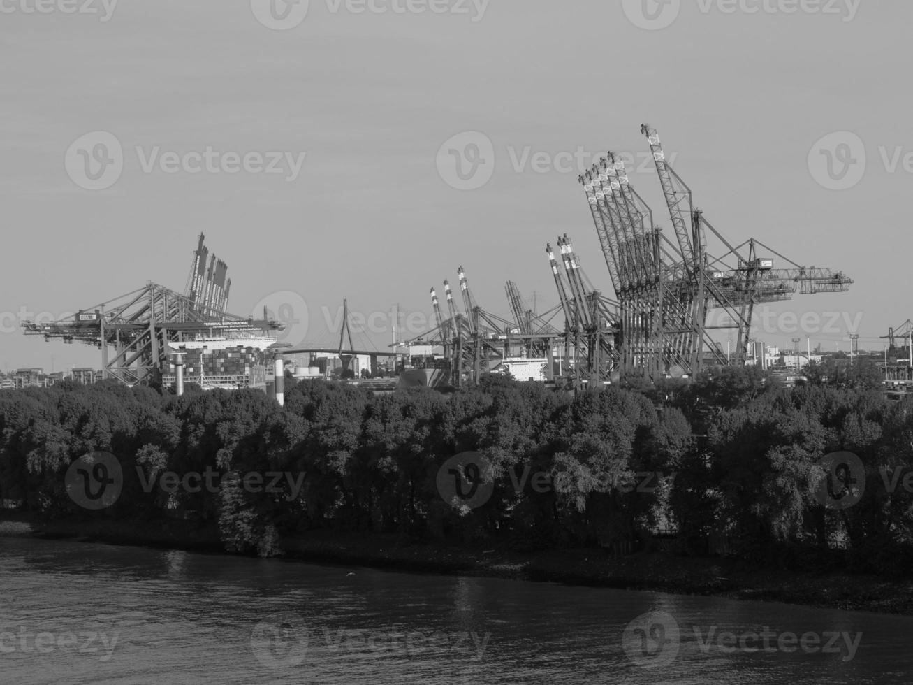
{"label": "dark rippled river water in front of the wooded bank", "polygon": [[913,618],[0,539],[0,683],[911,683]]}

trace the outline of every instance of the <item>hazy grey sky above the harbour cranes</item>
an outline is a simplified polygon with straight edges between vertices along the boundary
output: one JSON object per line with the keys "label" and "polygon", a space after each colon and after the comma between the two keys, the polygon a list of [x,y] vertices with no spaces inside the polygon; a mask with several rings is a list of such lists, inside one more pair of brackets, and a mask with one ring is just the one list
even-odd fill
{"label": "hazy grey sky above the harbour cranes", "polygon": [[[429,314],[429,289],[443,298],[460,265],[488,310],[507,315],[507,279],[551,307],[544,247],[565,232],[611,294],[573,155],[635,155],[632,181],[670,230],[644,121],[731,241],[855,279],[771,305],[758,337],[804,347],[807,332],[833,350],[857,326],[860,347],[880,350],[913,317],[913,5],[273,1],[0,3],[0,364],[97,366],[94,348],[26,338],[16,318],[148,280],[184,290],[200,231],[229,265],[229,309],[296,293],[309,341],[329,339],[343,297],[365,317],[394,303]],[[100,190],[79,176],[107,159],[89,132],[122,148]],[[854,135],[821,142],[834,132]],[[278,173],[263,173],[277,152]],[[226,153],[263,164],[226,173]],[[793,332],[791,313],[808,311],[821,320]],[[392,332],[373,321],[381,347]]]}

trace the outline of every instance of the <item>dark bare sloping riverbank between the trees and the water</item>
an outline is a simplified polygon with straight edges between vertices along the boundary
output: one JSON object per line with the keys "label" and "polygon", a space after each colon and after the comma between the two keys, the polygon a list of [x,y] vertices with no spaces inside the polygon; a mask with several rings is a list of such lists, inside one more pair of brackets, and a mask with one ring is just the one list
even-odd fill
{"label": "dark bare sloping riverbank between the trees and the water", "polygon": [[[0,536],[131,544],[226,553],[218,531],[187,522],[44,521],[5,512]],[[284,558],[315,564],[372,566],[415,573],[480,575],[567,585],[652,590],[677,595],[786,602],[806,606],[913,616],[913,580],[887,582],[840,572],[745,570],[720,558],[635,553],[615,559],[602,549],[535,553],[407,544],[394,536],[313,532],[282,541]]]}

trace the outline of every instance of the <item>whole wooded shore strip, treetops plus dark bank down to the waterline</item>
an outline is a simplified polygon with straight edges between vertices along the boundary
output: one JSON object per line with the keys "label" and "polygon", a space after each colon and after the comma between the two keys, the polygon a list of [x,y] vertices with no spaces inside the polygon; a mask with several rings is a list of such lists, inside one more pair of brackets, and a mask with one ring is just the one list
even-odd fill
{"label": "whole wooded shore strip, treetops plus dark bank down to the waterline", "polygon": [[4,390],[0,534],[913,615],[913,403],[806,376]]}

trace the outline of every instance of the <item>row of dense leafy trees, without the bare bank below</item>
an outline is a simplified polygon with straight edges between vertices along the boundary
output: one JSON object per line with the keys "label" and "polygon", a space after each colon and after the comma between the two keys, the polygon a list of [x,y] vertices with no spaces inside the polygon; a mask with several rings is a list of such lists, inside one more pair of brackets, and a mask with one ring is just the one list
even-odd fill
{"label": "row of dense leafy trees, without the bare bank below", "polygon": [[[908,571],[911,406],[865,370],[809,375],[787,388],[721,368],[576,396],[498,376],[452,395],[290,381],[284,407],[253,390],[2,391],[0,498],[49,516],[211,523],[227,550],[261,555],[329,529],[514,549],[666,538],[752,563]],[[840,450],[861,460],[866,487],[851,507],[825,507],[823,482],[842,485],[822,460]],[[66,474],[97,451],[120,463],[122,492],[85,511]],[[462,476],[487,488],[471,506],[438,479],[467,452],[479,469]]]}

